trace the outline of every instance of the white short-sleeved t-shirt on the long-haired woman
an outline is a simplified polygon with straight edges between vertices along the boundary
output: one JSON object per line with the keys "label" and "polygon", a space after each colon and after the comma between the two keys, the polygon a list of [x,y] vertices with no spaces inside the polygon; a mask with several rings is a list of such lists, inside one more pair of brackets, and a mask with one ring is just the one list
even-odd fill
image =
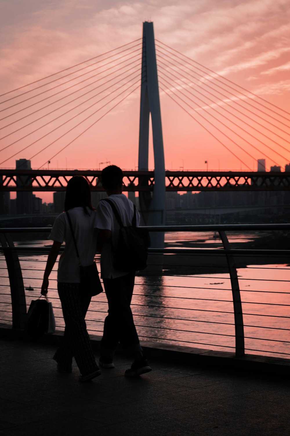
{"label": "white short-sleeved t-shirt on the long-haired woman", "polygon": [[[91,211],[89,208],[87,208],[87,211],[89,215],[85,213],[83,207],[69,210],[80,261],[83,266],[93,263],[97,250],[96,212]],[[58,264],[57,281],[60,283],[80,283],[79,261],[65,212],[58,215],[54,221],[49,238],[66,244]]]}

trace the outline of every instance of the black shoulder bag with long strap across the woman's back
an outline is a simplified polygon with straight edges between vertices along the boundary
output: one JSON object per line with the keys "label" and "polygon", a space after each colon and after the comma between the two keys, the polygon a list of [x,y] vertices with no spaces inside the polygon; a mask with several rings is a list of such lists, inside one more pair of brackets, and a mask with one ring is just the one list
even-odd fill
{"label": "black shoulder bag with long strap across the woman's back", "polygon": [[73,237],[73,243],[77,252],[77,259],[79,261],[80,266],[80,283],[83,290],[90,294],[90,296],[95,296],[103,292],[103,287],[100,281],[99,272],[97,269],[96,262],[93,262],[91,265],[83,266],[80,262],[80,255],[77,249],[77,242],[73,233],[73,225],[71,223],[70,214],[66,211],[67,219],[70,225],[70,231]]}

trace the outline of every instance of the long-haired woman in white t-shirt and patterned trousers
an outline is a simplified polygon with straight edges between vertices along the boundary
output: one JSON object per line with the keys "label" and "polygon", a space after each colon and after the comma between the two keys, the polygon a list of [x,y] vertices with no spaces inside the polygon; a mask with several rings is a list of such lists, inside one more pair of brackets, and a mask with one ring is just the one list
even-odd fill
{"label": "long-haired woman in white t-shirt and patterned trousers", "polygon": [[[84,177],[75,176],[68,182],[64,209],[69,211],[80,261],[83,266],[91,265],[97,245],[97,232],[94,230],[96,214],[91,205],[90,186]],[[84,319],[91,297],[80,285],[80,266],[67,213],[56,218],[50,239],[53,245],[44,271],[42,295],[47,294],[48,278],[60,246],[63,241],[66,244],[57,270],[57,290],[65,321],[64,341],[53,359],[57,362],[58,371],[71,372],[74,356],[81,374],[79,380],[91,380],[100,375]]]}

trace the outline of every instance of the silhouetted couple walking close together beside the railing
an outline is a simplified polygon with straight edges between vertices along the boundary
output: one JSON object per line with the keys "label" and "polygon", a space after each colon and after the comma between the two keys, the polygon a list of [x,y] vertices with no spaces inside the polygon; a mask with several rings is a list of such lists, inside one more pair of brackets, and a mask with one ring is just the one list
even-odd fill
{"label": "silhouetted couple walking close together beside the railing", "polygon": [[[134,208],[133,203],[122,194],[122,170],[115,165],[104,168],[101,181],[110,201],[120,214],[122,224],[130,226]],[[117,245],[120,225],[111,205],[107,201],[100,201],[95,211],[91,205],[89,184],[84,177],[76,176],[67,184],[64,209],[69,211],[82,265],[89,266],[93,263],[96,246],[101,253],[101,277],[109,310],[100,343],[100,367],[114,368],[113,356],[120,342],[124,351],[134,357],[131,368],[125,371],[125,376],[151,371],[143,356],[130,308],[135,273],[121,272],[113,267],[113,247]],[[139,222],[140,215],[137,211],[137,226]],[[79,380],[91,380],[100,375],[85,323],[91,290],[83,289],[80,284],[79,261],[66,213],[56,218],[50,239],[53,240],[53,245],[43,276],[43,295],[48,291],[50,272],[60,252],[60,246],[65,242],[65,250],[60,256],[57,270],[57,289],[63,310],[65,333],[63,344],[57,349],[53,359],[57,361],[58,371],[71,372],[74,357],[81,374]]]}

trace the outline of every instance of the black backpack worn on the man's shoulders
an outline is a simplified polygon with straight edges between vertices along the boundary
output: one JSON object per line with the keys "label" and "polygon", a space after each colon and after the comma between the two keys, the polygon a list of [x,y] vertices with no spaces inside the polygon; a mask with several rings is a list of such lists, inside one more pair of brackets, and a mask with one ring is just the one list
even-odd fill
{"label": "black backpack worn on the man's shoulders", "polygon": [[113,267],[122,272],[139,271],[147,267],[147,249],[150,246],[150,235],[146,228],[136,226],[136,206],[131,226],[124,226],[119,212],[112,200],[107,201],[120,225],[117,247],[113,247]]}

